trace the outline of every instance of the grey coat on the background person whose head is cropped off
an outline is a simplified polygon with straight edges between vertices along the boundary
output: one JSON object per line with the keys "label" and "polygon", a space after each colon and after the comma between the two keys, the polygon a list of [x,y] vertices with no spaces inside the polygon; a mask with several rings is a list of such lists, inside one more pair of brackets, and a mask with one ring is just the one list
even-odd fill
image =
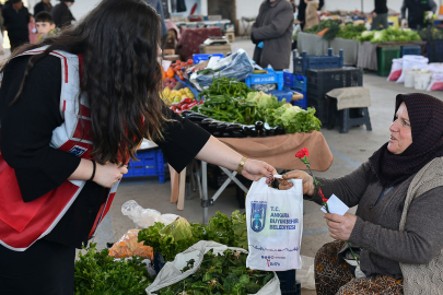
{"label": "grey coat on the background person whose head is cropped off", "polygon": [[259,48],[254,50],[254,60],[263,68],[289,69],[291,60],[292,31],[294,14],[287,0],[264,1],[253,25],[252,37],[256,44],[264,42],[261,56]]}

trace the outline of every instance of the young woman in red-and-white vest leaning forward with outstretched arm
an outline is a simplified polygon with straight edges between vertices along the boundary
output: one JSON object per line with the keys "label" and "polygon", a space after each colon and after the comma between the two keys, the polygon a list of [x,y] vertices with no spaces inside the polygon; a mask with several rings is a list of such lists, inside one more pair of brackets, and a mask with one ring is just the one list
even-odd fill
{"label": "young woman in red-and-white vest leaning forward with outstretched arm", "polygon": [[143,138],[177,172],[197,157],[254,180],[276,173],[167,109],[160,32],[144,1],[104,0],[1,69],[1,294],[73,293],[74,249],[94,235]]}

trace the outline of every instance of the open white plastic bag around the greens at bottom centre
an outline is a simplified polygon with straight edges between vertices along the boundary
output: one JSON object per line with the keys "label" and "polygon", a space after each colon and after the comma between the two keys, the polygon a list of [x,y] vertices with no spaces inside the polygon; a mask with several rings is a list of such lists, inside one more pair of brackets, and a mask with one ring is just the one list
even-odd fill
{"label": "open white plastic bag around the greens at bottom centre", "polygon": [[[178,253],[174,261],[166,262],[156,275],[155,281],[147,287],[148,295],[154,295],[155,291],[175,284],[194,274],[199,269],[205,253],[210,249],[213,249],[214,255],[222,253],[226,249],[247,252],[242,248],[228,247],[215,241],[200,240],[189,247],[186,251]],[[183,268],[186,267],[187,261],[190,259],[195,260],[194,268],[182,273]],[[273,279],[260,288],[256,295],[281,295],[280,281],[277,278],[277,274],[275,274]]]}

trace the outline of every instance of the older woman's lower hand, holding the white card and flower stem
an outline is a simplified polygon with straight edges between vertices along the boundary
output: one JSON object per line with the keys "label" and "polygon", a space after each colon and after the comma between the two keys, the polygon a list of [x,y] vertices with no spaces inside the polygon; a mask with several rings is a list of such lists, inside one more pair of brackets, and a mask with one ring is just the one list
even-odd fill
{"label": "older woman's lower hand, holding the white card and flower stem", "polygon": [[357,216],[354,214],[346,213],[341,216],[338,214],[326,213],[324,217],[329,226],[329,236],[338,240],[349,240],[357,222]]}

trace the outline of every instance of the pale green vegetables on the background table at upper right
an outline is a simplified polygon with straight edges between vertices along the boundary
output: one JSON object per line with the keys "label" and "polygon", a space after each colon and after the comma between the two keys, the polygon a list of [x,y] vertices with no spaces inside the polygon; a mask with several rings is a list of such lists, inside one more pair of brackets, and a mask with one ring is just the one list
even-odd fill
{"label": "pale green vegetables on the background table at upper right", "polygon": [[360,42],[371,43],[421,40],[416,31],[395,27],[388,27],[382,31],[366,31],[363,32],[358,39]]}

